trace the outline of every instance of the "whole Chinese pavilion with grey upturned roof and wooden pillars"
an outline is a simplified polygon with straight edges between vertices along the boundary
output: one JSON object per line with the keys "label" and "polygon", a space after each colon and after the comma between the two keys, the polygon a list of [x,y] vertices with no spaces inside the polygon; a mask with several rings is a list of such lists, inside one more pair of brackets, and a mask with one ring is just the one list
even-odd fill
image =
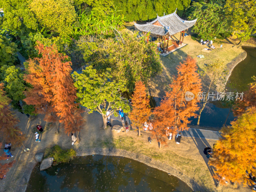
{"label": "whole Chinese pavilion with grey upturned roof and wooden pillars", "polygon": [[[195,23],[196,20],[187,21],[181,19],[176,14],[177,9],[175,12],[164,15],[162,17],[159,17],[157,15],[157,18],[151,22],[148,22],[147,24],[137,24],[134,22],[135,29],[142,31],[144,33],[150,32],[150,36],[153,37],[160,37],[163,38],[163,43],[161,44],[161,48],[164,50],[164,52],[167,51],[168,47],[172,46],[173,42],[177,43],[178,45],[183,43],[185,31],[188,28],[191,28]],[[180,32],[180,40],[179,42],[176,42],[172,40],[172,35],[177,34]],[[182,37],[183,33],[183,37]],[[182,40],[181,40],[182,37]]]}

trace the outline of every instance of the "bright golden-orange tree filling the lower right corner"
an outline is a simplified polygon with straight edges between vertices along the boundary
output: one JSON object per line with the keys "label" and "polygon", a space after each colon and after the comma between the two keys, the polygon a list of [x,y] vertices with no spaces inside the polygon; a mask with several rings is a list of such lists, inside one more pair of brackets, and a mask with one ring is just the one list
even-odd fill
{"label": "bright golden-orange tree filling the lower right corner", "polygon": [[216,169],[213,177],[220,180],[220,184],[224,184],[225,179],[249,184],[252,180],[246,171],[256,175],[256,108],[248,108],[221,132],[222,138],[214,145],[209,161]]}

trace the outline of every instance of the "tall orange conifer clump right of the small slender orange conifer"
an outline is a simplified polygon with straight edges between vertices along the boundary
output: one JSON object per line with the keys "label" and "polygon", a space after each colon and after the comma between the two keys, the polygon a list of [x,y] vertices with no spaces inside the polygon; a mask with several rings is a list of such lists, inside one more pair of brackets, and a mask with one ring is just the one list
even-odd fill
{"label": "tall orange conifer clump right of the small slender orange conifer", "polygon": [[[170,84],[171,91],[166,93],[161,105],[155,108],[153,127],[160,145],[164,141],[167,127],[173,135],[179,130],[187,130],[190,122],[188,118],[197,116],[195,113],[198,107],[198,93],[201,92],[201,80],[196,66],[196,60],[190,56],[177,67],[178,75]],[[186,100],[186,92],[194,94],[195,99]],[[173,137],[174,138],[174,137]]]}

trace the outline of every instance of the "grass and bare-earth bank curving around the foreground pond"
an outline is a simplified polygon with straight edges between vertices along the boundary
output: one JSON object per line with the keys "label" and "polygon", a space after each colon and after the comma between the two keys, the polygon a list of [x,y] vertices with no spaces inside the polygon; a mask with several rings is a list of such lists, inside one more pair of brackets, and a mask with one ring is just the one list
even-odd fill
{"label": "grass and bare-earth bank curving around the foreground pond", "polygon": [[[28,119],[25,114],[18,113],[17,111],[15,114],[20,119],[18,127],[28,136],[24,141],[24,145],[30,151],[24,152],[21,147],[12,147],[12,155],[14,157],[10,161],[15,160],[16,163],[6,174],[6,178],[0,181],[2,191],[24,192],[31,171],[37,163],[35,161],[35,154],[44,152],[45,148],[51,148],[54,145],[59,145],[63,149],[74,148],[77,151],[77,155],[86,155],[91,152],[101,153],[101,151],[96,151],[95,148],[104,148],[106,153],[109,154],[113,153],[108,152],[111,150],[125,150],[127,153],[132,153],[132,158],[135,160],[138,160],[139,156],[145,158],[145,163],[149,163],[150,160],[148,161],[148,158],[152,158],[151,161],[153,162],[157,161],[165,164],[162,168],[159,167],[165,170],[165,172],[170,172],[174,175],[174,171],[176,171],[177,176],[183,181],[187,177],[190,178],[186,181],[186,183],[191,183],[192,186],[189,186],[193,187],[194,180],[195,183],[209,192],[247,192],[247,189],[249,189],[242,186],[234,188],[232,185],[216,189],[216,184],[211,177],[213,170],[209,171],[208,159],[203,153],[205,146],[212,147],[216,140],[183,137],[180,145],[177,145],[173,140],[168,140],[168,145],[162,145],[162,149],[159,150],[155,138],[152,138],[152,144],[148,142],[149,132],[141,132],[141,137],[138,137],[138,133],[131,130],[128,133],[125,131],[120,133],[112,132],[109,128],[107,130],[100,130],[100,127],[102,127],[102,117],[97,113],[92,113],[89,115],[84,114],[83,117],[86,120],[86,124],[80,131],[81,141],[79,145],[72,146],[71,136],[65,134],[62,129],[60,129],[58,135],[55,134],[56,129],[53,126],[45,126],[44,116],[38,115],[35,119]],[[40,143],[35,142],[34,139],[36,124],[41,124],[44,127],[43,134],[39,136]],[[93,151],[91,151],[92,149]],[[126,155],[126,152],[124,152],[124,155]],[[120,152],[115,155],[120,155]],[[127,155],[127,157],[129,156]],[[151,164],[151,161],[149,164]],[[171,172],[172,170],[169,171],[173,167],[175,170],[173,172]],[[196,186],[196,184],[194,185]]]}

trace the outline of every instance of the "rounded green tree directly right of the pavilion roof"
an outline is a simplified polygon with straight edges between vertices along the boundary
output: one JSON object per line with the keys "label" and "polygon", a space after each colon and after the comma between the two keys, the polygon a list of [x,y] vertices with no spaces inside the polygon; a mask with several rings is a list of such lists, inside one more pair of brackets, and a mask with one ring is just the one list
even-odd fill
{"label": "rounded green tree directly right of the pavilion roof", "polygon": [[200,38],[212,39],[227,30],[223,2],[194,2],[191,7],[189,19],[196,19],[193,32]]}

